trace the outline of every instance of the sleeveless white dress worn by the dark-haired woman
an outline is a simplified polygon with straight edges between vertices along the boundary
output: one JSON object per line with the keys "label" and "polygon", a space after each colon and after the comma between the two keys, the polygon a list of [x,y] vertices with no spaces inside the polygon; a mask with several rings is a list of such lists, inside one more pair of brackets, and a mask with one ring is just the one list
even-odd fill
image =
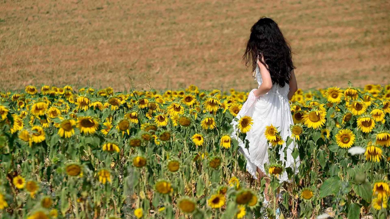
{"label": "sleeveless white dress worn by the dark-haired woman", "polygon": [[[255,72],[257,83],[259,87],[262,83],[262,78],[260,74],[259,65],[256,66]],[[237,114],[236,118],[238,120],[242,116],[250,116],[253,119],[252,128],[250,131],[246,132],[246,138],[249,141],[249,150],[245,148],[245,143],[238,138],[238,122],[232,120],[230,123],[233,125],[233,132],[231,134],[232,138],[238,140],[239,151],[245,156],[247,160],[246,170],[254,177],[256,177],[256,166],[259,169],[266,173],[264,169],[264,164],[269,163],[268,158],[268,147],[272,147],[271,143],[267,143],[266,136],[264,134],[266,126],[273,125],[278,127],[280,136],[284,140],[284,144],[279,151],[280,160],[284,164],[285,168],[291,167],[294,173],[298,172],[298,167],[300,165],[299,156],[294,161],[294,157],[291,155],[294,151],[294,147],[298,147],[295,141],[293,141],[287,149],[287,159],[284,159],[284,149],[286,147],[286,138],[287,136],[291,137],[290,125],[294,124],[293,117],[291,116],[290,104],[287,98],[289,93],[289,84],[285,84],[284,87],[280,87],[277,83],[273,84],[271,90],[268,93],[256,97],[254,95],[253,89],[249,92],[248,99],[246,99],[241,110]],[[280,182],[290,180],[287,177],[287,172],[280,176]]]}

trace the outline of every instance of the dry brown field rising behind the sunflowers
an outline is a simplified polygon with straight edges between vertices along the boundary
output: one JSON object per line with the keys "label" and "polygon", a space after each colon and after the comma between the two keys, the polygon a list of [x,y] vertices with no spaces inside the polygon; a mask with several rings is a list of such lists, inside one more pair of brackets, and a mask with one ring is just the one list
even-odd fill
{"label": "dry brown field rising behind the sunflowers", "polygon": [[254,88],[242,62],[250,27],[275,19],[301,88],[390,83],[390,2],[52,1],[0,3],[0,88],[42,84]]}

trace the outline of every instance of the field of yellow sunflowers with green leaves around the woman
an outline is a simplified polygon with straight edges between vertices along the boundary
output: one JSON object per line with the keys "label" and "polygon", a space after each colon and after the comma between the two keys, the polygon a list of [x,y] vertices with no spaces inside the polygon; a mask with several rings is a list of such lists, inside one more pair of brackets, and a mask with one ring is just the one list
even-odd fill
{"label": "field of yellow sunflowers with green leaves around the woman", "polygon": [[[2,91],[2,218],[389,217],[390,85],[298,90],[299,172],[278,162],[268,124],[265,178],[245,170],[232,122],[249,92],[71,86]],[[237,138],[253,124],[238,121]],[[280,183],[282,171],[291,183]],[[277,198],[278,194],[281,198]]]}

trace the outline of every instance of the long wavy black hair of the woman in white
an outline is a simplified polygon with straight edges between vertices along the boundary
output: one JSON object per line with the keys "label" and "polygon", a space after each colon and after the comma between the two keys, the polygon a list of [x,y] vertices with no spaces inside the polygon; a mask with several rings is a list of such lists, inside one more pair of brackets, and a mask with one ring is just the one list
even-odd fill
{"label": "long wavy black hair of the woman in white", "polygon": [[[291,55],[291,47],[273,19],[261,17],[250,28],[250,37],[243,55],[247,68],[250,62],[252,71],[255,71],[258,57],[264,66],[268,65],[272,84],[277,83],[280,87],[284,87],[290,81],[291,70],[296,69]],[[262,57],[267,65],[262,62]]]}

